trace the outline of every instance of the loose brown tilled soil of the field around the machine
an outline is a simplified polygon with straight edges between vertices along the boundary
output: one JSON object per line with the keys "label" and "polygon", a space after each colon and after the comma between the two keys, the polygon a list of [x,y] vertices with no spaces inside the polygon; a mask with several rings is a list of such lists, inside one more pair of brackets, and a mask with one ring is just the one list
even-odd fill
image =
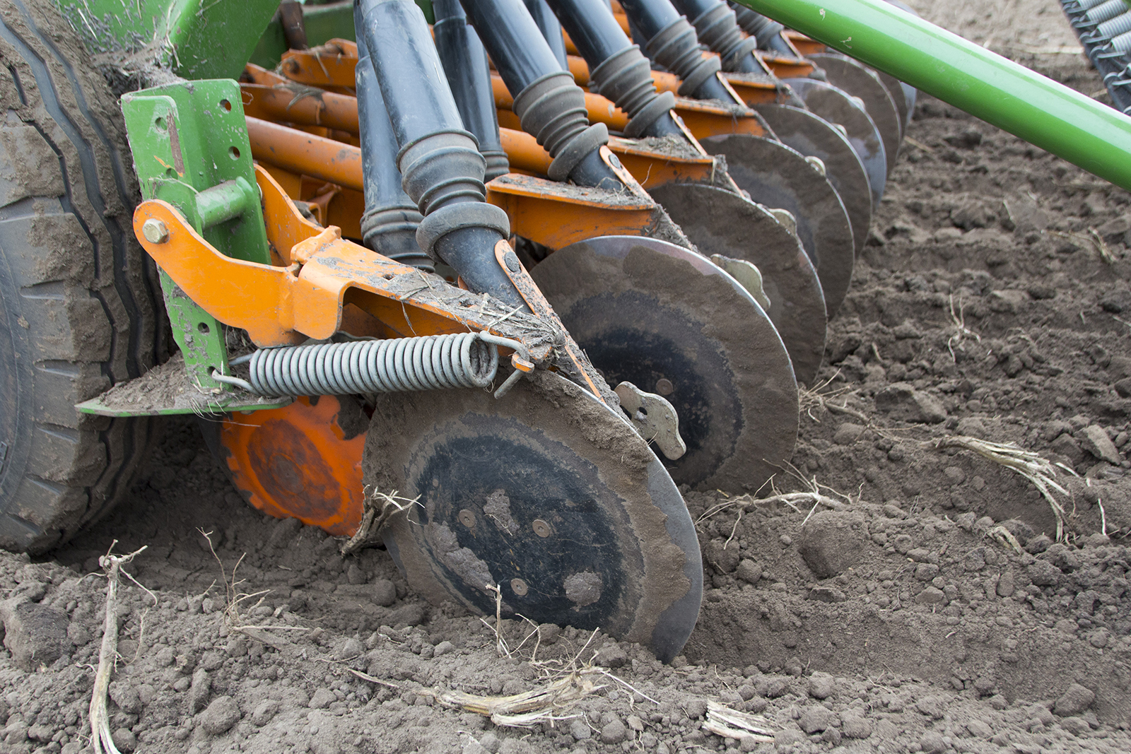
{"label": "loose brown tilled soil of the field around the machine", "polygon": [[[1051,0],[914,5],[1102,88],[1056,52],[1072,37]],[[795,474],[775,479],[824,502],[687,493],[709,588],[674,662],[519,622],[500,657],[493,619],[429,606],[383,551],[343,558],[257,513],[196,419],[167,419],[112,515],[50,558],[0,555],[0,751],[89,751],[105,583],[84,574],[114,540],[148,546],[118,608],[122,751],[1131,751],[1128,194],[929,96],[908,137],[803,396]],[[1029,480],[936,449],[947,435],[1061,463],[1063,541]],[[238,562],[234,591],[267,591],[233,618]],[[608,675],[578,676],[558,720],[448,707],[594,660]],[[774,742],[708,733],[708,702],[762,716]]]}

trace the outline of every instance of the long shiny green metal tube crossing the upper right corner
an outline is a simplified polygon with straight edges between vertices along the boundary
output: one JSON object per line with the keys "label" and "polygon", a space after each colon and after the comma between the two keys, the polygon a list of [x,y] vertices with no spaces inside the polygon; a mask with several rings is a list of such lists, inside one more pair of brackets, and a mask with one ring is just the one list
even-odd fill
{"label": "long shiny green metal tube crossing the upper right corner", "polygon": [[883,0],[735,0],[1131,190],[1131,118]]}

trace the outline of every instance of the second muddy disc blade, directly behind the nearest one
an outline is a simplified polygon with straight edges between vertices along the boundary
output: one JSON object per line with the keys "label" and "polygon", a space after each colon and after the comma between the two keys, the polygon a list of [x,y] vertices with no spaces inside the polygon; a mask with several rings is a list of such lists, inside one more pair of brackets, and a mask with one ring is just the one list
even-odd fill
{"label": "second muddy disc blade, directly behind the nearest one", "polygon": [[718,267],[664,241],[601,236],[555,251],[532,275],[610,384],[627,380],[675,407],[688,447],[666,462],[677,484],[753,491],[793,454],[789,356]]}

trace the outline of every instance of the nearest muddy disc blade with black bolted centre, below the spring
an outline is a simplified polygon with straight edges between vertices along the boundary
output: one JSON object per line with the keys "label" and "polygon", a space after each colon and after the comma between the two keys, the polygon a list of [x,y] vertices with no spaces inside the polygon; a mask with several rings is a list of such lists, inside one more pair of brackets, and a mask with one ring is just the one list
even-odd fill
{"label": "nearest muddy disc blade with black bolted centre, below the spring", "polygon": [[[619,410],[619,409],[618,409]],[[385,544],[409,584],[535,623],[602,631],[668,661],[694,627],[702,562],[672,478],[614,409],[547,372],[377,398],[372,489],[418,501]]]}

